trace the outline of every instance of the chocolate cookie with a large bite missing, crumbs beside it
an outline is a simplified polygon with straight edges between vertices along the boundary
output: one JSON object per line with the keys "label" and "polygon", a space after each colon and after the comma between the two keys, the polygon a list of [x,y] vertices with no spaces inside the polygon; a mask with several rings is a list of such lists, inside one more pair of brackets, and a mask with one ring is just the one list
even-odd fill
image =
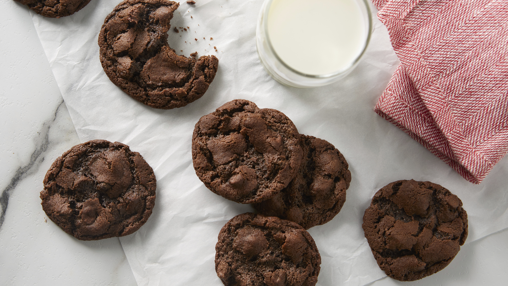
{"label": "chocolate cookie with a large bite missing, crumbs beside it", "polygon": [[[214,55],[187,58],[168,45],[178,3],[125,0],[104,20],[100,59],[109,79],[153,108],[182,107],[205,94],[217,72]],[[197,53],[193,53],[197,54]]]}

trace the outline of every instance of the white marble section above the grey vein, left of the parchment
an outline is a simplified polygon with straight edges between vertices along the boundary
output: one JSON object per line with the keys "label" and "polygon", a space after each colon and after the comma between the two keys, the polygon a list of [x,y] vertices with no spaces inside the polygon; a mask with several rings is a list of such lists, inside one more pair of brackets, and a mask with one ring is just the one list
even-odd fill
{"label": "white marble section above the grey vein, left of the parchment", "polygon": [[[62,99],[27,9],[2,1],[0,19],[0,174],[14,174]],[[2,180],[0,189],[9,184]]]}

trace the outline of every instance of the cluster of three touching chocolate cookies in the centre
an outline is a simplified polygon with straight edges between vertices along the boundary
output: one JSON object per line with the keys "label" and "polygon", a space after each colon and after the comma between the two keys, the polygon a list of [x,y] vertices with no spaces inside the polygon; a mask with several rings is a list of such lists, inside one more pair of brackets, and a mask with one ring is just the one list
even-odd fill
{"label": "cluster of three touching chocolate cookies in the centre", "polygon": [[198,121],[192,153],[206,187],[260,213],[238,215],[220,231],[215,268],[223,283],[314,285],[321,258],[305,230],[344,204],[351,172],[342,154],[300,134],[284,113],[242,99]]}

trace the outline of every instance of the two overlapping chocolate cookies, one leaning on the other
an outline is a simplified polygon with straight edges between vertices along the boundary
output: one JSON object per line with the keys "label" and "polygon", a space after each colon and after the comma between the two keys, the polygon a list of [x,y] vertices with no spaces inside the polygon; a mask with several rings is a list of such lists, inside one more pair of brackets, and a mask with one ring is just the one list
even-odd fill
{"label": "two overlapping chocolate cookies, one leaning on the other", "polygon": [[299,134],[284,113],[237,99],[194,128],[196,174],[212,192],[305,229],[342,208],[351,172],[329,142]]}

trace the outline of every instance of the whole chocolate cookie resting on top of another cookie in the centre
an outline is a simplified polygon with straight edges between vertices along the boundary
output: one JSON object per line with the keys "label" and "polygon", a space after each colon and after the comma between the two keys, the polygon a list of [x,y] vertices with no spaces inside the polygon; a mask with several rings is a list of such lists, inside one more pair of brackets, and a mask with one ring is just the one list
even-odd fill
{"label": "whole chocolate cookie resting on top of another cookie in the centre", "polygon": [[284,113],[237,99],[194,127],[194,169],[207,188],[231,201],[259,203],[286,187],[302,162],[300,134]]}

